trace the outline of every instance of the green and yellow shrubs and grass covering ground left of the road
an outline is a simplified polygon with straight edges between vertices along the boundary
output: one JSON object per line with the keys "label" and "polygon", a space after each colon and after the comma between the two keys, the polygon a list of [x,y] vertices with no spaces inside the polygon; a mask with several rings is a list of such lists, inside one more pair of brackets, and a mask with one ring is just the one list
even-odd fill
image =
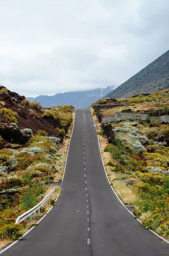
{"label": "green and yellow shrubs and grass covering ground left of the road", "polygon": [[[4,101],[1,102],[5,102],[5,105],[8,103],[6,99],[9,99],[6,97],[10,93],[5,87],[1,87],[0,95],[1,98],[4,97]],[[20,97],[23,98],[23,96]],[[42,108],[39,102],[31,103],[27,99],[18,102],[15,99],[14,103],[16,101],[17,105],[23,106],[23,108],[24,105],[27,105],[28,108],[32,107],[33,110],[32,108],[26,110],[28,118],[32,112],[36,113],[38,119],[41,120],[39,123],[47,124],[46,130],[49,126],[50,131],[54,134],[49,135],[43,129],[34,133],[31,128],[18,128],[20,112],[18,114],[10,108],[4,108],[4,104],[1,105],[0,102],[0,118],[3,121],[1,122],[3,129],[0,131],[4,132],[5,129],[10,128],[12,134],[15,135],[15,131],[17,131],[20,137],[26,138],[25,144],[12,143],[11,137],[10,143],[5,144],[8,140],[4,140],[0,134],[0,248],[22,236],[32,225],[36,224],[38,218],[54,205],[54,199],[60,192],[59,182],[63,178],[74,118],[71,105],[46,109]],[[47,186],[48,171],[50,173],[50,188]],[[29,223],[29,219],[26,219],[26,222],[15,224],[17,216],[38,204],[53,187],[57,187],[56,192],[46,207],[41,207],[40,215],[33,218],[33,222]]]}

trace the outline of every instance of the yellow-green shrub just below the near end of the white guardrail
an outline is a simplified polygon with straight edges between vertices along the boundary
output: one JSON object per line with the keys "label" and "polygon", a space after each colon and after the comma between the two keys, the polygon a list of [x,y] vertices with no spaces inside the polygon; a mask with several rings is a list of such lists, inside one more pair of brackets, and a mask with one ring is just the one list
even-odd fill
{"label": "yellow-green shrub just below the near end of the white guardrail", "polygon": [[7,224],[0,228],[0,239],[17,240],[23,235],[21,224]]}

